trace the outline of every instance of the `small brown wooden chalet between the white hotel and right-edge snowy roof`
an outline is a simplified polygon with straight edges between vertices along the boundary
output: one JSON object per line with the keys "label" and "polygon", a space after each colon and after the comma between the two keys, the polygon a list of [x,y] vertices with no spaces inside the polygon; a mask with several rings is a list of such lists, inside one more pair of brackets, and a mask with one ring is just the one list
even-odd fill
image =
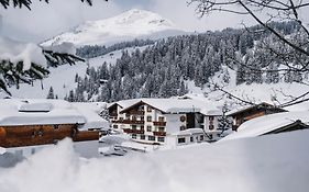
{"label": "small brown wooden chalet between the white hotel and right-edge snowy roof", "polygon": [[236,109],[231,112],[229,112],[227,115],[231,116],[233,118],[233,125],[232,129],[238,131],[239,126],[252,118],[263,116],[263,115],[268,115],[268,114],[274,114],[274,113],[280,113],[280,112],[287,112],[284,109],[274,106],[272,104],[268,104],[266,102],[262,102],[256,105],[251,105],[251,106],[244,106],[242,109]]}

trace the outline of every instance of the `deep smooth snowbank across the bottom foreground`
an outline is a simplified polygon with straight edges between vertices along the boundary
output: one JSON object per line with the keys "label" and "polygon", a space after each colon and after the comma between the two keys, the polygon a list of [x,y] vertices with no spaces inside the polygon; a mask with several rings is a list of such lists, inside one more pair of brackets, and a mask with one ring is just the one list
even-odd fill
{"label": "deep smooth snowbank across the bottom foreground", "polygon": [[0,169],[1,192],[307,192],[309,132],[80,160],[69,140]]}

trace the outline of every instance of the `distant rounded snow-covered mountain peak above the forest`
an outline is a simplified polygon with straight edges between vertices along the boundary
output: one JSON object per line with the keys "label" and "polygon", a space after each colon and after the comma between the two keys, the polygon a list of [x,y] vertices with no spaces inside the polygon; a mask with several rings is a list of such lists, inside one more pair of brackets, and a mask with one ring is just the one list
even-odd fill
{"label": "distant rounded snow-covered mountain peak above the forest", "polygon": [[133,9],[110,19],[85,22],[73,31],[57,35],[42,45],[57,45],[63,42],[70,42],[77,46],[111,45],[136,37],[159,38],[184,33],[170,21],[156,13]]}

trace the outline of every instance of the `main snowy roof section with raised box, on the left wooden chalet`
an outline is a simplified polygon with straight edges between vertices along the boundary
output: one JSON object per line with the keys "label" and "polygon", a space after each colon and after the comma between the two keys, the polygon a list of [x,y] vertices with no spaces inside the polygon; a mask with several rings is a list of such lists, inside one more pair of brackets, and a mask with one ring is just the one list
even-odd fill
{"label": "main snowy roof section with raised box, on the left wooden chalet", "polygon": [[0,125],[2,126],[76,123],[85,124],[86,118],[66,101],[0,100]]}

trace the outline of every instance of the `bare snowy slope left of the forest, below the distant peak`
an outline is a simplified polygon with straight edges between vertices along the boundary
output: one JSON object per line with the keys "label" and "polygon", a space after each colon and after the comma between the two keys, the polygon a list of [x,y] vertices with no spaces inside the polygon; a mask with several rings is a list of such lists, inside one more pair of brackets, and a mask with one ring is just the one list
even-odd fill
{"label": "bare snowy slope left of the forest, below the distant peak", "polygon": [[[145,49],[147,46],[136,47],[141,50]],[[135,50],[136,48],[125,48],[129,53]],[[104,61],[107,64],[114,65],[117,59],[122,55],[122,50],[115,50],[110,54],[95,57],[89,59],[87,63],[89,67],[99,67]],[[63,65],[57,68],[49,68],[49,76],[42,80],[35,80],[33,86],[21,83],[20,89],[15,87],[9,88],[9,91],[12,93],[13,98],[34,98],[34,99],[45,99],[48,94],[51,87],[54,89],[54,94],[59,99],[68,95],[69,91],[77,87],[75,82],[75,75],[78,74],[80,77],[86,75],[87,69],[86,63],[77,63],[76,65]],[[0,92],[0,98],[7,97],[4,92]]]}

